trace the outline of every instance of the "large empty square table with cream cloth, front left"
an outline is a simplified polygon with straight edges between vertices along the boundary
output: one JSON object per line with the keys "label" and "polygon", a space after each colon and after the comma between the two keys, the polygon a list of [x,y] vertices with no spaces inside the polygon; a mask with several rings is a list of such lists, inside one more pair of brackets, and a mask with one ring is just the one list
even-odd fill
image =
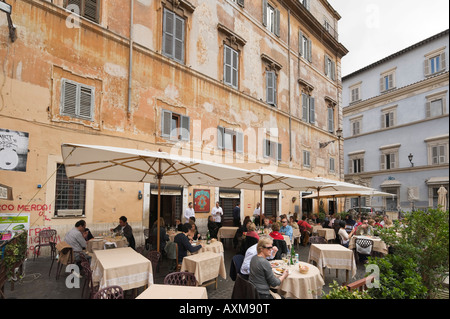
{"label": "large empty square table with cream cloth, front left", "polygon": [[128,290],[153,284],[152,263],[130,247],[94,250],[91,269],[92,280],[100,289],[117,285]]}

